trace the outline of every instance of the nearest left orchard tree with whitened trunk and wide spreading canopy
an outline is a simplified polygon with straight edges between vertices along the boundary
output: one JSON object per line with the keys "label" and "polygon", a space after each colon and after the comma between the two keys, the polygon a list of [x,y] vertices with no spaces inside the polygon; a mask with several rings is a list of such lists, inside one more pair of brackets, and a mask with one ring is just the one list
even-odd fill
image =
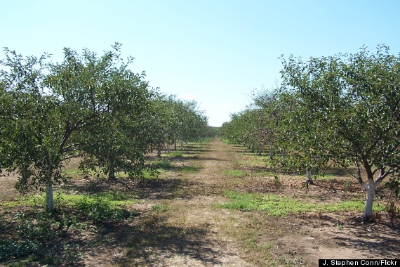
{"label": "nearest left orchard tree with whitened trunk and wide spreading canopy", "polygon": [[[132,115],[137,101],[146,98],[147,83],[127,72],[131,59],[124,63],[119,50],[116,44],[98,58],[88,50],[79,56],[65,48],[65,60],[53,64],[46,55],[23,58],[6,49],[0,73],[0,166],[20,174],[20,190],[46,188],[48,211],[55,208],[53,183],[65,179],[62,163],[83,155],[101,158],[94,147],[110,144],[109,129],[102,130]],[[114,130],[111,138],[121,138],[120,129]]]}

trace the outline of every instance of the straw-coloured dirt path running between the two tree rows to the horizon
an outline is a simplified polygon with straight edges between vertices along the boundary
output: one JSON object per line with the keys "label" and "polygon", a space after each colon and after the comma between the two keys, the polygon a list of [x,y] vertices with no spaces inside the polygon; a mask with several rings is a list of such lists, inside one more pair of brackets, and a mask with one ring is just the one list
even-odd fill
{"label": "straw-coloured dirt path running between the two tree rows to the horizon", "polygon": [[174,197],[155,196],[152,203],[147,202],[153,206],[166,205],[168,211],[157,214],[159,221],[154,223],[154,235],[147,240],[147,254],[133,256],[134,265],[253,266],[246,261],[243,249],[225,232],[229,220],[232,223],[240,218],[235,218],[238,216],[232,211],[214,207],[225,200],[220,191],[227,179],[224,171],[232,168],[233,155],[225,143],[217,140],[204,145],[203,150],[195,161],[182,162],[183,166],[196,164],[198,172],[168,174],[169,179],[181,181]]}

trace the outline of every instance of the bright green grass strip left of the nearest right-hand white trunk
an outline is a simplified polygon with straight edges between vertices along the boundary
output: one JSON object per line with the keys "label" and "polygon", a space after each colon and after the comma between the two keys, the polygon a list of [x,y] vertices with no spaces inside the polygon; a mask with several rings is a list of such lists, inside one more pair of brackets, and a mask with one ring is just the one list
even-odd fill
{"label": "bright green grass strip left of the nearest right-hand white trunk", "polygon": [[[288,216],[311,211],[363,211],[364,202],[352,200],[339,203],[315,204],[304,203],[291,197],[279,195],[264,195],[251,193],[225,192],[225,197],[232,199],[231,202],[220,204],[219,207],[226,209],[239,209],[241,211],[265,211],[269,216]],[[375,205],[374,211],[382,211],[383,207]]]}

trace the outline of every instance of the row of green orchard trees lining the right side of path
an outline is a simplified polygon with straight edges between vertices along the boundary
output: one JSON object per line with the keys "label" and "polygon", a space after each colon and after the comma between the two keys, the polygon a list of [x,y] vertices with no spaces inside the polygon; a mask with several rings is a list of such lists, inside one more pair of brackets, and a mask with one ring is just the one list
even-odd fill
{"label": "row of green orchard trees lining the right side of path", "polygon": [[258,93],[222,125],[222,136],[270,157],[278,151],[283,166],[307,173],[328,163],[346,169],[366,189],[368,222],[385,178],[399,193],[400,58],[378,46],[375,53],[281,61],[279,89]]}

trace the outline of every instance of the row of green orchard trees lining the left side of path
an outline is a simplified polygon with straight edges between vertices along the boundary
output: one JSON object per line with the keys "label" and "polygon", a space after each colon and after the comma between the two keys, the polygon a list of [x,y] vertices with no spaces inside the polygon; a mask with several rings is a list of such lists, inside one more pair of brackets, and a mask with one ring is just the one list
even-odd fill
{"label": "row of green orchard trees lining the left side of path", "polygon": [[79,157],[81,169],[109,178],[140,175],[145,155],[165,143],[191,141],[211,129],[196,102],[149,88],[130,70],[121,45],[98,56],[65,48],[64,60],[23,57],[5,48],[0,68],[0,169],[19,174],[19,190],[46,190],[65,181],[62,167]]}

